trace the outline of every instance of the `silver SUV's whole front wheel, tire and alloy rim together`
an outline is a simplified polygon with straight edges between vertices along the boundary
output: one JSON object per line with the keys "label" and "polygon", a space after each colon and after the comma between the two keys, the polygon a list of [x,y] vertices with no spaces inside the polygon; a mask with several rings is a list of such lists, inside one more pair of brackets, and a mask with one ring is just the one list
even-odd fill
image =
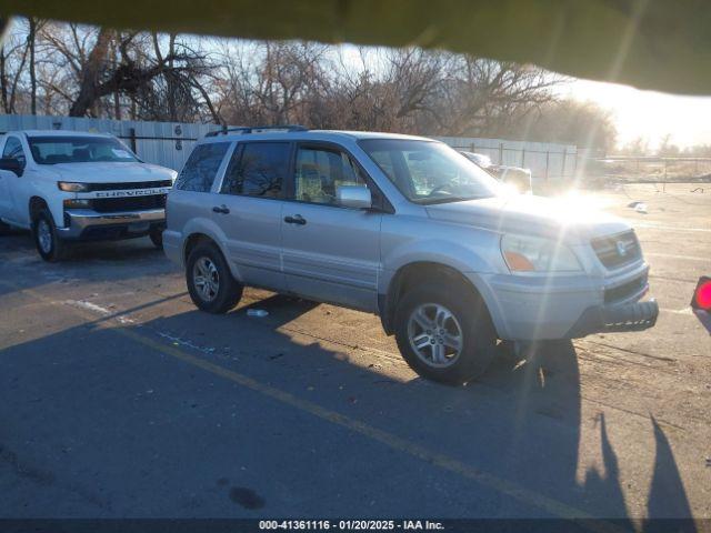
{"label": "silver SUV's whole front wheel, tire and alloy rim together", "polygon": [[395,310],[402,356],[422,378],[448,384],[481,375],[495,353],[497,335],[481,299],[447,283],[408,291]]}

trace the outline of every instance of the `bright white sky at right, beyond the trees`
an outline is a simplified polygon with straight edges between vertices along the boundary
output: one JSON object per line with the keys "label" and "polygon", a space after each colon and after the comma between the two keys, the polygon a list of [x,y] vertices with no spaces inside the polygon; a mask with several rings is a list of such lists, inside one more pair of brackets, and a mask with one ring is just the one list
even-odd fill
{"label": "bright white sky at right, beyond the trees", "polygon": [[667,134],[681,148],[711,144],[711,97],[640,91],[590,80],[573,80],[560,92],[611,109],[617,119],[618,145],[642,137],[649,140],[650,148],[655,148]]}

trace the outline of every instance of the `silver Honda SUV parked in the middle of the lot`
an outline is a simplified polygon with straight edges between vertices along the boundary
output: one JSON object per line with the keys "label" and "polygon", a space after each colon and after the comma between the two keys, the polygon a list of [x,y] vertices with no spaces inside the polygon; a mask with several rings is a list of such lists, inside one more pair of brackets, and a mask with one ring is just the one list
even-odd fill
{"label": "silver Honda SUV parked in the middle of the lot", "polygon": [[420,375],[467,382],[502,341],[651,328],[623,221],[504,195],[430,139],[301,127],[217,132],[168,197],[166,254],[198,308],[244,285],[375,313]]}

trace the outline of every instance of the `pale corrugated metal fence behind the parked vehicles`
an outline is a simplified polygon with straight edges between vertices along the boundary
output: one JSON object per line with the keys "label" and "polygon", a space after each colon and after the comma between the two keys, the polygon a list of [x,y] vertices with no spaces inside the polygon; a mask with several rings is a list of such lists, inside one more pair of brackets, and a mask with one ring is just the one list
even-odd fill
{"label": "pale corrugated metal fence behind the parked vehicles", "polygon": [[[132,120],[83,119],[71,117],[38,117],[31,114],[0,115],[0,133],[11,130],[70,130],[111,133],[122,139],[144,161],[180,170],[194,143],[216,124],[178,122],[140,122]],[[449,145],[489,155],[495,164],[531,169],[539,180],[572,178],[577,169],[578,150],[572,144],[439,137]]]}

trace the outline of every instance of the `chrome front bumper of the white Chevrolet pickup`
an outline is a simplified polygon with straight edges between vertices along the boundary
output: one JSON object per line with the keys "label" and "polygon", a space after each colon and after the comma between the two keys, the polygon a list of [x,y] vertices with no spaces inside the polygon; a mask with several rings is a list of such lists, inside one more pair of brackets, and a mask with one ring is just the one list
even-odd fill
{"label": "chrome front bumper of the white Chevrolet pickup", "polygon": [[166,227],[166,210],[99,213],[91,210],[64,212],[64,228],[58,228],[62,239],[116,240],[143,237]]}

